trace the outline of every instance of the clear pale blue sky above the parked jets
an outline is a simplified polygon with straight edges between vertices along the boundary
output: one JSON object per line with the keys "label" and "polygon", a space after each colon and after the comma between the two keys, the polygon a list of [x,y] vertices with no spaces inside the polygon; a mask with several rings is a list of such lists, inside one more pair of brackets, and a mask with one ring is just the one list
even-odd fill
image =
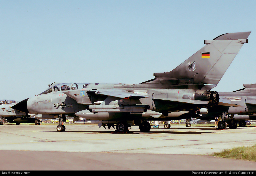
{"label": "clear pale blue sky above the parked jets", "polygon": [[219,84],[256,83],[256,1],[0,0],[0,99],[53,82],[140,83],[189,58],[204,40],[252,31]]}

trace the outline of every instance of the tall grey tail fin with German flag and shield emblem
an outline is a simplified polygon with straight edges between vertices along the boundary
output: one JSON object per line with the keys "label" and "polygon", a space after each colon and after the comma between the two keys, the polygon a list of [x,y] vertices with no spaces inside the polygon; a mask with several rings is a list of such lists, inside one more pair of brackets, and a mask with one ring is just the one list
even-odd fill
{"label": "tall grey tail fin with German flag and shield emblem", "polygon": [[170,72],[154,73],[155,79],[143,83],[207,85],[215,87],[251,32],[228,33],[213,40]]}

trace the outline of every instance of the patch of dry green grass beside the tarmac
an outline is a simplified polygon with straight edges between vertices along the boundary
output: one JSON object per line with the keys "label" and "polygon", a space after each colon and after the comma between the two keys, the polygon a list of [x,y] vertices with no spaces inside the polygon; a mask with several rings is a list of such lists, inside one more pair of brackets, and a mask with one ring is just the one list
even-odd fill
{"label": "patch of dry green grass beside the tarmac", "polygon": [[223,150],[221,152],[214,153],[212,156],[256,161],[256,145],[248,147],[236,147],[231,150]]}

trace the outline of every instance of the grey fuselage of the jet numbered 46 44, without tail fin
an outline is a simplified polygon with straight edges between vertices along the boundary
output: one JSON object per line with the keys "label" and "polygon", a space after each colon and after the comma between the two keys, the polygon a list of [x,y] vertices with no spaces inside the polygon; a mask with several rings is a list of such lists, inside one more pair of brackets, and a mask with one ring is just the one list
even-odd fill
{"label": "grey fuselage of the jet numbered 46 44, without tail fin", "polygon": [[[81,89],[79,89],[80,87]],[[104,96],[100,94],[101,91],[115,91],[120,94],[129,92],[138,95],[139,98]],[[134,111],[138,114],[145,113],[146,110],[168,114],[174,111],[197,110],[218,103],[218,97],[214,97],[216,95],[216,92],[195,89],[160,89],[158,84],[64,83],[52,86],[45,92],[28,98],[25,101],[27,108],[25,112],[42,114],[42,117],[44,117],[44,114],[52,114],[53,116],[67,114],[72,116],[80,111],[86,111],[87,119],[110,120],[123,118],[124,116],[127,118],[136,116],[132,114]],[[144,96],[144,98],[140,98],[141,96]],[[103,108],[100,111],[101,113],[93,113],[87,110],[89,105],[99,106],[99,104],[113,106],[112,109],[118,105],[117,108],[120,111],[104,110],[105,108]],[[139,109],[139,105],[147,105],[145,107],[148,108],[141,112],[136,111],[136,109]],[[126,111],[121,111],[121,108],[126,109]],[[24,112],[24,110],[22,111]]]}

